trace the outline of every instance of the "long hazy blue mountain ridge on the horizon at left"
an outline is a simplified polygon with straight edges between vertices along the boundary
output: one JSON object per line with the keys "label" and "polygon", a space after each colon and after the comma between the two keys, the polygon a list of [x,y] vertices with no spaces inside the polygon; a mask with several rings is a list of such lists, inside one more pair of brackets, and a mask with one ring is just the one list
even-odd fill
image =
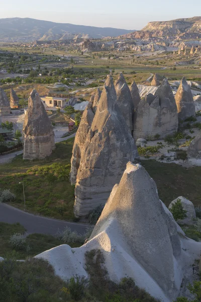
{"label": "long hazy blue mountain ridge on the horizon at left", "polygon": [[55,23],[30,18],[0,19],[0,41],[64,40],[117,37],[133,30]]}

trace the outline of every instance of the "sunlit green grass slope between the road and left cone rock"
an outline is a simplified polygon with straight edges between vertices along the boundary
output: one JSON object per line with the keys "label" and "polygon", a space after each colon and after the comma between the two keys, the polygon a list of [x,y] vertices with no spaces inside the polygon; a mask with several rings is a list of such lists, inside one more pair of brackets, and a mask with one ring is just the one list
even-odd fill
{"label": "sunlit green grass slope between the road and left cone rock", "polygon": [[68,180],[73,142],[74,137],[56,143],[52,155],[45,160],[23,161],[20,155],[11,163],[1,165],[0,189],[11,189],[17,196],[10,204],[24,208],[23,188],[19,184],[23,181],[27,211],[73,220],[74,186]]}

